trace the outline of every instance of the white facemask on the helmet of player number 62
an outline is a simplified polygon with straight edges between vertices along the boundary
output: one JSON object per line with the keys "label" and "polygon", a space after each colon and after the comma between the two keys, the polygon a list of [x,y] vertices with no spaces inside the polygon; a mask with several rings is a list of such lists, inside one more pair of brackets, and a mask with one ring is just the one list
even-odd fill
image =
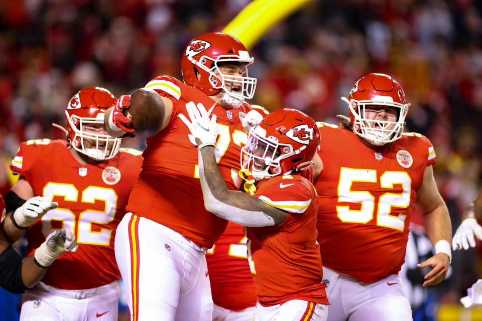
{"label": "white facemask on the helmet of player number 62", "polygon": [[[96,118],[79,117],[77,115],[71,115],[69,117],[67,111],[65,111],[65,113],[67,114],[69,125],[75,132],[74,137],[71,137],[71,145],[75,150],[97,161],[105,161],[117,154],[121,146],[121,138],[82,130],[85,125],[101,124],[103,126],[104,113],[98,113]],[[79,121],[78,127],[75,126],[77,121]],[[85,140],[93,142],[90,148],[85,146]],[[80,141],[80,143],[77,141]]]}

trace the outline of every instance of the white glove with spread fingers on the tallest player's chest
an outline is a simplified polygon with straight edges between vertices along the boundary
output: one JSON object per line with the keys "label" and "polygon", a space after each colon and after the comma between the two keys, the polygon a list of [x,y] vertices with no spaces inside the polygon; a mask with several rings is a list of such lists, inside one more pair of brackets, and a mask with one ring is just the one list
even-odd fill
{"label": "white glove with spread fingers on the tallest player's chest", "polygon": [[179,114],[179,118],[191,131],[191,134],[188,135],[189,140],[194,145],[197,145],[195,138],[198,138],[201,141],[201,144],[197,147],[198,149],[208,145],[215,146],[218,133],[216,115],[212,115],[211,119],[209,119],[209,113],[204,106],[198,103],[196,107],[193,101],[186,104],[186,109],[191,121],[187,120],[183,114]]}

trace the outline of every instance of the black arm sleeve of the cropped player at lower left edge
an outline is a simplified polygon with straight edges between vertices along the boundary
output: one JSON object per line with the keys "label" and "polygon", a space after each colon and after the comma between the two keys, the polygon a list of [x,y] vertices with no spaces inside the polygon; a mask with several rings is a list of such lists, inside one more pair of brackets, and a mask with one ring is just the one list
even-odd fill
{"label": "black arm sleeve of the cropped player at lower left edge", "polygon": [[29,289],[22,279],[22,255],[13,247],[0,254],[0,286],[12,293]]}

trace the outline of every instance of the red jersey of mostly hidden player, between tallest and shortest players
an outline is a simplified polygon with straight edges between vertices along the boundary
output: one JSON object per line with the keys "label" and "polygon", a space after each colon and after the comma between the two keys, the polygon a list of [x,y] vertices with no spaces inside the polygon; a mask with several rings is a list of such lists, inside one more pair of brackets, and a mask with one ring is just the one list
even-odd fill
{"label": "red jersey of mostly hidden player, between tallest and shortest players", "polygon": [[228,222],[219,240],[207,251],[212,300],[232,311],[256,305],[256,291],[247,259],[245,229]]}

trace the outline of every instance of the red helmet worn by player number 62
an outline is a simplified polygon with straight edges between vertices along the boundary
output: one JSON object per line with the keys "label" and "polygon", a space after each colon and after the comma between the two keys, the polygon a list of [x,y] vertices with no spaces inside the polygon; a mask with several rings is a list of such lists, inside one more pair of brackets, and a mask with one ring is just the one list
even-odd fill
{"label": "red helmet worn by player number 62", "polygon": [[[89,124],[103,126],[105,111],[115,106],[116,102],[117,99],[110,91],[99,87],[81,89],[70,99],[65,110],[65,119],[67,139],[75,150],[98,161],[110,159],[117,154],[121,138],[85,130],[85,125]],[[86,148],[86,139],[94,142],[91,148]]]}

